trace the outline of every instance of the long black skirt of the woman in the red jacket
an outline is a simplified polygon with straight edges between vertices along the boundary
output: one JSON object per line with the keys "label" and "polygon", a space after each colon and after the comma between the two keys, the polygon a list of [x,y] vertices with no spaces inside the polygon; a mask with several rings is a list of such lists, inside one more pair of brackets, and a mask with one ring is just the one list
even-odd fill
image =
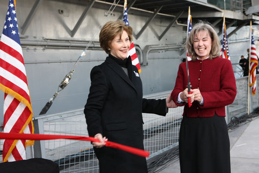
{"label": "long black skirt of the woman in the red jacket", "polygon": [[181,173],[230,173],[225,117],[183,116],[179,134]]}

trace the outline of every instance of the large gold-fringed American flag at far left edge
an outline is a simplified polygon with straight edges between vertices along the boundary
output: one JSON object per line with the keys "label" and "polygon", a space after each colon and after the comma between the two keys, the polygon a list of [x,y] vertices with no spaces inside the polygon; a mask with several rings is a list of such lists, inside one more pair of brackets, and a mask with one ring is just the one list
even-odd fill
{"label": "large gold-fringed American flag at far left edge", "polygon": [[[4,132],[33,133],[32,107],[14,0],[9,1],[0,40],[0,89],[4,98]],[[5,140],[3,161],[26,159],[25,147],[34,141]]]}

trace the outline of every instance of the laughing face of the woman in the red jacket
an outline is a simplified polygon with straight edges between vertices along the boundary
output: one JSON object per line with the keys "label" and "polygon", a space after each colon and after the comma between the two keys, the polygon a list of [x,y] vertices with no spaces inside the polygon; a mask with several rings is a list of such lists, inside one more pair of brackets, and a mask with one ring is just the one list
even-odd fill
{"label": "laughing face of the woman in the red jacket", "polygon": [[200,60],[205,60],[210,52],[212,39],[208,32],[199,31],[193,38],[193,48]]}

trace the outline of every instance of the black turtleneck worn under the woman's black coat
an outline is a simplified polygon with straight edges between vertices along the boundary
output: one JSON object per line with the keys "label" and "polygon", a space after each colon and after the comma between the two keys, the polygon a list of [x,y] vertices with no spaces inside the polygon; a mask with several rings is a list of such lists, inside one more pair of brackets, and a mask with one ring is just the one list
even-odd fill
{"label": "black turtleneck worn under the woman's black coat", "polygon": [[122,70],[126,73],[126,75],[128,76],[128,78],[130,78],[132,80],[132,61],[131,61],[131,57],[127,57],[124,60],[120,60],[117,57],[109,54],[109,57],[116,62],[121,68]]}

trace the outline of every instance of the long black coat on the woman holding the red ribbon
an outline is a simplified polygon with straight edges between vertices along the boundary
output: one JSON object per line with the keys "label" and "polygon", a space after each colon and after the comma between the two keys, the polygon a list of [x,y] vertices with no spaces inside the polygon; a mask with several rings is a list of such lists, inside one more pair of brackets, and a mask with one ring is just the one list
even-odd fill
{"label": "long black coat on the woman holding the red ribbon", "polygon": [[[109,141],[140,149],[143,146],[142,112],[165,116],[165,99],[145,99],[136,66],[127,60],[128,76],[122,68],[106,57],[104,63],[91,71],[91,87],[85,105],[89,136],[101,133]],[[100,172],[147,172],[144,157],[109,147],[94,148]]]}

